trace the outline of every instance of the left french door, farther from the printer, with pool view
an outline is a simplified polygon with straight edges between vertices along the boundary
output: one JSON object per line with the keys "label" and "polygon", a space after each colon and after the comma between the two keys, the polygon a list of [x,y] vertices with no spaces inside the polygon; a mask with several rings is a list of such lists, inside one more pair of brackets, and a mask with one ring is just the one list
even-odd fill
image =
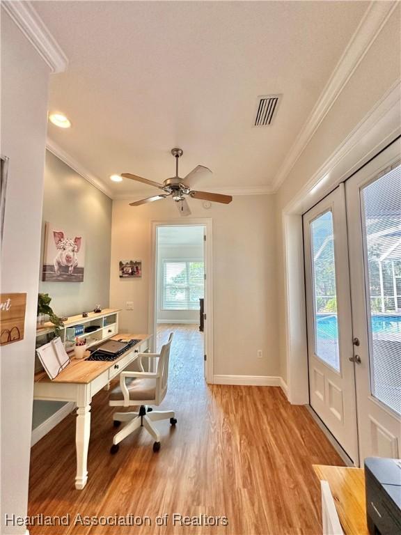
{"label": "left french door, farther from the printer, with pool view", "polygon": [[304,215],[310,405],[358,465],[344,185]]}

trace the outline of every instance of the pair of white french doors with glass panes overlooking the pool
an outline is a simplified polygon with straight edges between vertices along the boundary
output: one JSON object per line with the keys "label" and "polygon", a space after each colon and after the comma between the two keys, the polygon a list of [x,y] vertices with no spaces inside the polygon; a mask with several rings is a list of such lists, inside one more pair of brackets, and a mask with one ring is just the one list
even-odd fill
{"label": "pair of white french doors with glass panes overlooking the pool", "polygon": [[401,453],[400,152],[304,215],[310,405],[355,465]]}

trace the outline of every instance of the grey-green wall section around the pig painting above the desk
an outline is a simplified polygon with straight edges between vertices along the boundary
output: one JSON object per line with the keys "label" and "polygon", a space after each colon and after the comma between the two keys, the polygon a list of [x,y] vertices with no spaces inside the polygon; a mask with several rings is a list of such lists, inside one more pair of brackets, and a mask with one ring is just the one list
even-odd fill
{"label": "grey-green wall section around the pig painting above the desk", "polygon": [[96,304],[109,306],[111,205],[100,189],[46,151],[43,224],[74,228],[85,240],[83,282],[40,281],[39,290],[52,297],[56,314],[74,316]]}

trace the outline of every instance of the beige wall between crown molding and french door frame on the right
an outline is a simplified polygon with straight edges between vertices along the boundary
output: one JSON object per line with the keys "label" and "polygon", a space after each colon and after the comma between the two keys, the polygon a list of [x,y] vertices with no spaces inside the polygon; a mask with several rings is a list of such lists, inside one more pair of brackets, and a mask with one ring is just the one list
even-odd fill
{"label": "beige wall between crown molding and french door frame on the right", "polygon": [[[280,370],[284,379],[288,376],[286,364],[288,332],[285,328],[286,267],[283,254],[283,212],[375,103],[400,79],[400,20],[400,6],[398,6],[354,71],[329,114],[317,128],[277,194],[278,325]],[[368,152],[368,147],[366,150]]]}

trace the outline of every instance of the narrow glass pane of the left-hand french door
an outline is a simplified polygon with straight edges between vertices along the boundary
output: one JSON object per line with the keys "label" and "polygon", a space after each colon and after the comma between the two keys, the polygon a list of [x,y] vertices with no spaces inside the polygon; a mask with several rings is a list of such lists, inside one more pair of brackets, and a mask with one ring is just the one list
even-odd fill
{"label": "narrow glass pane of the left-hand french door", "polygon": [[340,371],[338,352],[336,266],[331,210],[310,224],[313,272],[315,355]]}

